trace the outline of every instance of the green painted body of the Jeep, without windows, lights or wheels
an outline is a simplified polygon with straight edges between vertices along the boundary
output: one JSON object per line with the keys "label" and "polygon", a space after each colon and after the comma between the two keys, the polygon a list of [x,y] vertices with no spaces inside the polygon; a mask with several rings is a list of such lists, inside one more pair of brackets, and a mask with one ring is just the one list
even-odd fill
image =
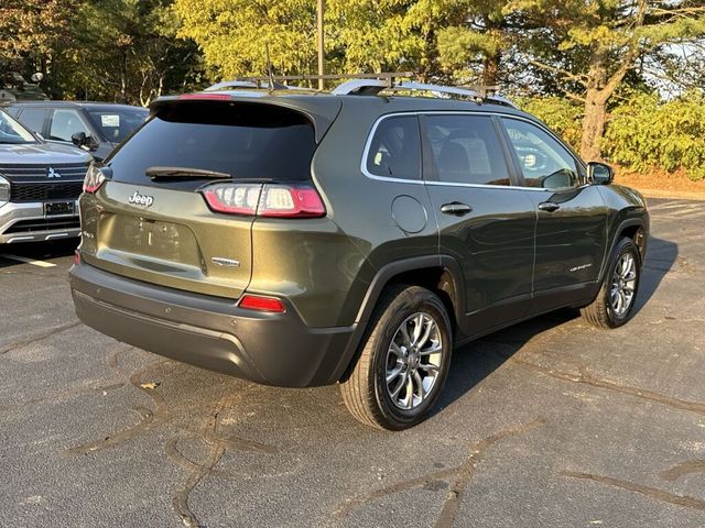
{"label": "green painted body of the Jeep, without windows, lights or wheels", "polygon": [[[88,324],[259,383],[323,385],[345,376],[379,294],[400,274],[422,270],[414,276],[431,279],[445,273],[452,288],[438,288],[452,293],[460,342],[588,302],[623,229],[638,226],[644,240],[648,234],[644,200],[616,185],[530,189],[511,163],[511,186],[431,182],[425,140],[420,178],[370,177],[362,168],[368,139],[384,116],[509,114],[543,127],[518,110],[408,97],[254,96],[232,92],[227,103],[295,110],[314,125],[310,178],[325,216],[223,215],[194,189],[108,180],[80,198],[82,263],[70,274],[78,315]],[[153,112],[187,103],[167,98]],[[140,132],[130,141],[140,141]],[[508,145],[502,148],[509,156]],[[130,204],[134,193],[153,204]],[[471,211],[441,212],[451,202]],[[541,211],[543,202],[560,209]],[[239,265],[221,266],[213,258]],[[278,297],[286,312],[248,314],[237,307],[245,293]],[[137,337],[120,330],[126,321],[135,326]],[[305,365],[297,366],[296,358]]]}

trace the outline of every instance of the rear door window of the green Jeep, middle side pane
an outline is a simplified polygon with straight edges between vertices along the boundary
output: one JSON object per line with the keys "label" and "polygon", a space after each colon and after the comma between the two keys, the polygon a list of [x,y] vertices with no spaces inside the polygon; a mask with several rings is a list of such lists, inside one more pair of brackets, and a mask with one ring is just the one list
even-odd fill
{"label": "rear door window of the green Jeep, middle side pane", "polygon": [[489,116],[426,116],[424,122],[441,182],[510,185]]}

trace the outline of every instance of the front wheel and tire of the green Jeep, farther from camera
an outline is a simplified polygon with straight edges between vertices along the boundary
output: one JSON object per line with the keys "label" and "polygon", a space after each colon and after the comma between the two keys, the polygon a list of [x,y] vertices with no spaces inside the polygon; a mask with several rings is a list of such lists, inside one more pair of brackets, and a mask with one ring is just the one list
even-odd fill
{"label": "front wheel and tire of the green Jeep, farther from camera", "polygon": [[[625,275],[625,262],[633,263],[633,273]],[[632,277],[626,280],[626,278]],[[581,309],[581,315],[590,324],[597,328],[617,328],[633,317],[634,302],[641,282],[641,254],[631,239],[620,239],[612,251],[609,267],[603,279],[603,285],[595,300]],[[621,297],[621,305],[614,297],[615,288]],[[631,297],[626,297],[626,292],[631,288]],[[626,307],[625,307],[626,305]]]}

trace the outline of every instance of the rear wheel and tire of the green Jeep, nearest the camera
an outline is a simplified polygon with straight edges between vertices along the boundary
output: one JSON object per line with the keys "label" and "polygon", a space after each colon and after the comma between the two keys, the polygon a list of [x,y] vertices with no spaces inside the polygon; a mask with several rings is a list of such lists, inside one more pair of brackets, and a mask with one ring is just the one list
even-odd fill
{"label": "rear wheel and tire of the green Jeep, nearest the camera", "polygon": [[[453,351],[451,320],[438,296],[419,286],[388,288],[361,346],[355,369],[340,384],[352,416],[389,430],[422,421],[443,389]],[[389,384],[388,375],[393,375]]]}

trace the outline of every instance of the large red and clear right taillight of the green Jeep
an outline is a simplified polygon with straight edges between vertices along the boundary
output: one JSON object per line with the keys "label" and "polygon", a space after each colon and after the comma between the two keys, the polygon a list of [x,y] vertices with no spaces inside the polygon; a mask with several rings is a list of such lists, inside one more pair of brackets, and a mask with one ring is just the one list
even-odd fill
{"label": "large red and clear right taillight of the green Jeep", "polygon": [[326,209],[316,189],[308,185],[216,184],[203,195],[217,212],[276,218],[317,218]]}

